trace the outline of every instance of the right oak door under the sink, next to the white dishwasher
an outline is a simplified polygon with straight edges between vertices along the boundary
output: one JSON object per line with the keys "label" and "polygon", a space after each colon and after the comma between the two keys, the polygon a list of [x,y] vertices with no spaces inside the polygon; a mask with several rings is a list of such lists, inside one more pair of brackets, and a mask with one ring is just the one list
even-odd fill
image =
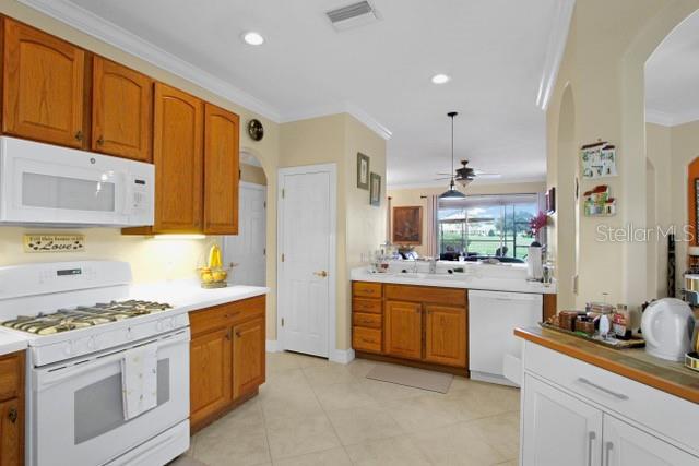
{"label": "right oak door under the sink, next to the white dishwasher", "polygon": [[466,310],[425,304],[425,360],[466,367]]}

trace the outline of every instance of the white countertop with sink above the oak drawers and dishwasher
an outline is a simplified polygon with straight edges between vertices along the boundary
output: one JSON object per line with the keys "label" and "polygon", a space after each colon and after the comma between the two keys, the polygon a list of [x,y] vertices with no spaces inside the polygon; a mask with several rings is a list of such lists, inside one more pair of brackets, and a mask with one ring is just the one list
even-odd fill
{"label": "white countertop with sink above the oak drawers and dishwasher", "polygon": [[454,274],[404,274],[401,272],[371,273],[367,267],[353,268],[351,279],[357,282],[392,283],[400,285],[436,286],[442,288],[484,289],[491,291],[514,291],[552,295],[556,285],[529,282],[525,278],[487,276],[486,273]]}

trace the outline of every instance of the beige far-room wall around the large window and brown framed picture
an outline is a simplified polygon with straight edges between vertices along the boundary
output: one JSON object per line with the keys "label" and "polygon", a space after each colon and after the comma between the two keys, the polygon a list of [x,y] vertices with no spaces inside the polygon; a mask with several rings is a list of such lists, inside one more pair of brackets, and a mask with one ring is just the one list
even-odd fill
{"label": "beige far-room wall around the large window and brown framed picture", "polygon": [[[422,199],[426,195],[439,195],[447,190],[447,186],[437,188],[389,188],[388,195],[391,198],[391,207],[401,207],[406,205],[422,205],[423,206],[423,244],[416,246],[415,251],[420,255],[427,255],[427,230],[429,228],[428,222],[425,219],[427,212],[427,200]],[[464,193],[466,195],[478,194],[529,194],[540,193],[546,191],[546,183],[542,182],[520,182],[520,183],[490,183],[471,184]]]}

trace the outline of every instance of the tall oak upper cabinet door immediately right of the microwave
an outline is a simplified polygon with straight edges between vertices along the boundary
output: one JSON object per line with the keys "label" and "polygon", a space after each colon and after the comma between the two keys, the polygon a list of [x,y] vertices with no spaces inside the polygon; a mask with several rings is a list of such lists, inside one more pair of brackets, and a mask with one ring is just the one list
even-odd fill
{"label": "tall oak upper cabinet door immediately right of the microwave", "polygon": [[203,103],[155,84],[155,232],[201,232]]}

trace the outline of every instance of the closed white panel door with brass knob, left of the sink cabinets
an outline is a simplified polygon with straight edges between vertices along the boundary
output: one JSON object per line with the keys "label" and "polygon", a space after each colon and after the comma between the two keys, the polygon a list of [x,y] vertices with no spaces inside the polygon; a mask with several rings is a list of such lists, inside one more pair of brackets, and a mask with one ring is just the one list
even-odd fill
{"label": "closed white panel door with brass knob, left of the sink cabinets", "polygon": [[280,339],[282,349],[328,357],[335,187],[329,171],[307,169],[280,172]]}

